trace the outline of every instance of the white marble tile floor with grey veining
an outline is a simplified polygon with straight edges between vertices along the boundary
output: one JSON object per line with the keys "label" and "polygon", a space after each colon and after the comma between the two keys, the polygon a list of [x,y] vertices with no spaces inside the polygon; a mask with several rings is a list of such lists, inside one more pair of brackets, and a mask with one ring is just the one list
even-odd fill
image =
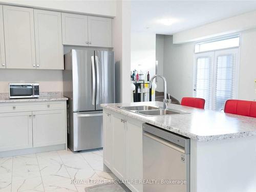
{"label": "white marble tile floor with grey veining", "polygon": [[85,192],[87,187],[113,179],[112,173],[103,170],[102,150],[0,158],[0,192]]}

